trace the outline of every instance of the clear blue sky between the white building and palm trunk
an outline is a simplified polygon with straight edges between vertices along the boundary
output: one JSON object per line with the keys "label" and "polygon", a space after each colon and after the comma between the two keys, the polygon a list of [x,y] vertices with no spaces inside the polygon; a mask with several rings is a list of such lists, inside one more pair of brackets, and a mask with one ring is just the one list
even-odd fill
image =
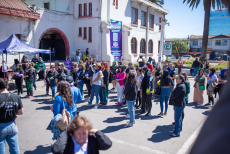
{"label": "clear blue sky between the white building and palm trunk", "polygon": [[166,38],[187,38],[188,35],[203,35],[204,7],[201,0],[198,8],[193,11],[183,0],[164,0],[163,7],[169,11],[166,19]]}

